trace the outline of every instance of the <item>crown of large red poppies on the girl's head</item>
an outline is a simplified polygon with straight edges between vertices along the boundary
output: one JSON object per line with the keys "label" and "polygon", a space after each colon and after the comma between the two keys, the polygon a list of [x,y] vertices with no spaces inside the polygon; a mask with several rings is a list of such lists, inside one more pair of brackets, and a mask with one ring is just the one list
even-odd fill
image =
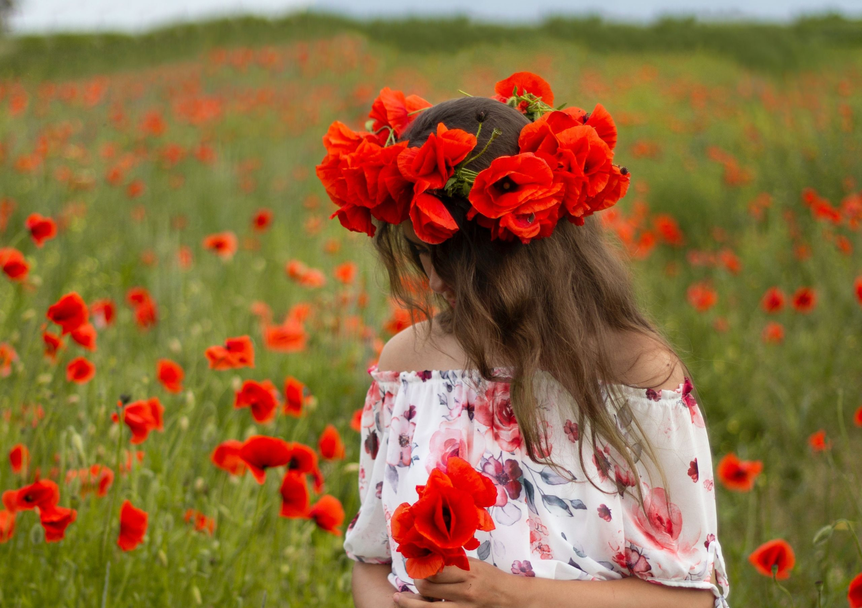
{"label": "crown of large red poppies on the girl's head", "polygon": [[522,243],[549,236],[561,217],[578,225],[625,196],[629,172],[613,163],[616,126],[597,104],[554,109],[553,91],[530,72],[516,72],[497,83],[493,97],[531,122],[521,129],[519,154],[499,156],[483,171],[470,166],[501,131],[494,128],[482,150],[472,154],[476,135],[437,124],[421,147],[397,141],[415,115],[431,107],[422,97],[405,97],[389,87],[372,104],[366,132],[333,122],[323,136],[327,155],[317,177],[338,205],[345,228],[374,235],[372,217],[402,223],[428,243],[446,241],[458,231],[440,196],[470,202],[466,218],[490,229],[491,240]]}

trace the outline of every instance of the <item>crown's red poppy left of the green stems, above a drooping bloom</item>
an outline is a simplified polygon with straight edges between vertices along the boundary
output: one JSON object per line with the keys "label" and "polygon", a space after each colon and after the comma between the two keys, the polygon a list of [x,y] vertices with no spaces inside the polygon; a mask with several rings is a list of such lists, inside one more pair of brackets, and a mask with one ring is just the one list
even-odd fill
{"label": "crown's red poppy left of the green stems, above a drooping bloom", "polygon": [[425,185],[420,191],[440,189],[474,147],[476,135],[439,122],[437,132],[428,135],[422,146],[406,147],[398,154],[398,168],[405,179]]}

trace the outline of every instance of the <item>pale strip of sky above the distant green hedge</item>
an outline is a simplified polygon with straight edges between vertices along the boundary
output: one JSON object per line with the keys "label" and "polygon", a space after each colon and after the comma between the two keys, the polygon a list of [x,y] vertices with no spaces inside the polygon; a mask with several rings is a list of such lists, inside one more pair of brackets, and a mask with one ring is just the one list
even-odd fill
{"label": "pale strip of sky above the distant green hedge", "polygon": [[358,17],[465,15],[484,21],[538,22],[549,15],[598,14],[648,22],[666,15],[788,21],[840,11],[862,16],[862,0],[17,0],[16,33],[114,30],[139,32],[217,16],[281,16],[315,9]]}

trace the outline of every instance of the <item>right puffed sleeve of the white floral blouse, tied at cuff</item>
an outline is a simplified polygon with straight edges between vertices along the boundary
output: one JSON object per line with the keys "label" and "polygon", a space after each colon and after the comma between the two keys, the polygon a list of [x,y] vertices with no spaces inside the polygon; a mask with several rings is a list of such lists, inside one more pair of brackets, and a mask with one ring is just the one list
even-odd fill
{"label": "right puffed sleeve of the white floral blouse, tied at cuff", "polygon": [[[624,430],[636,420],[651,443],[665,481],[647,450],[636,447],[644,505],[622,498],[625,567],[666,586],[709,589],[715,608],[727,608],[727,571],[715,516],[712,454],[703,415],[689,379],[676,391],[632,389],[618,416]],[[623,480],[626,475],[622,475]],[[634,486],[634,478],[629,480]],[[630,490],[636,490],[630,487]],[[715,576],[713,570],[715,568]]]}

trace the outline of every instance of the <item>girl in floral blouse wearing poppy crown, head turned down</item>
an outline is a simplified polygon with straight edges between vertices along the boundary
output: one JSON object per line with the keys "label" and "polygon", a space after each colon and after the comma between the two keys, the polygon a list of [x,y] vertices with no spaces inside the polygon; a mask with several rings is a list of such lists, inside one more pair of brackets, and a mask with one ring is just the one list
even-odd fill
{"label": "girl in floral blouse wearing poppy crown, head turned down", "polygon": [[[628,187],[614,123],[552,103],[526,72],[434,106],[384,89],[371,134],[324,138],[333,216],[426,319],[369,368],[357,608],[728,606],[695,393],[591,216]],[[453,455],[494,482],[494,530],[413,580],[390,518]]]}

